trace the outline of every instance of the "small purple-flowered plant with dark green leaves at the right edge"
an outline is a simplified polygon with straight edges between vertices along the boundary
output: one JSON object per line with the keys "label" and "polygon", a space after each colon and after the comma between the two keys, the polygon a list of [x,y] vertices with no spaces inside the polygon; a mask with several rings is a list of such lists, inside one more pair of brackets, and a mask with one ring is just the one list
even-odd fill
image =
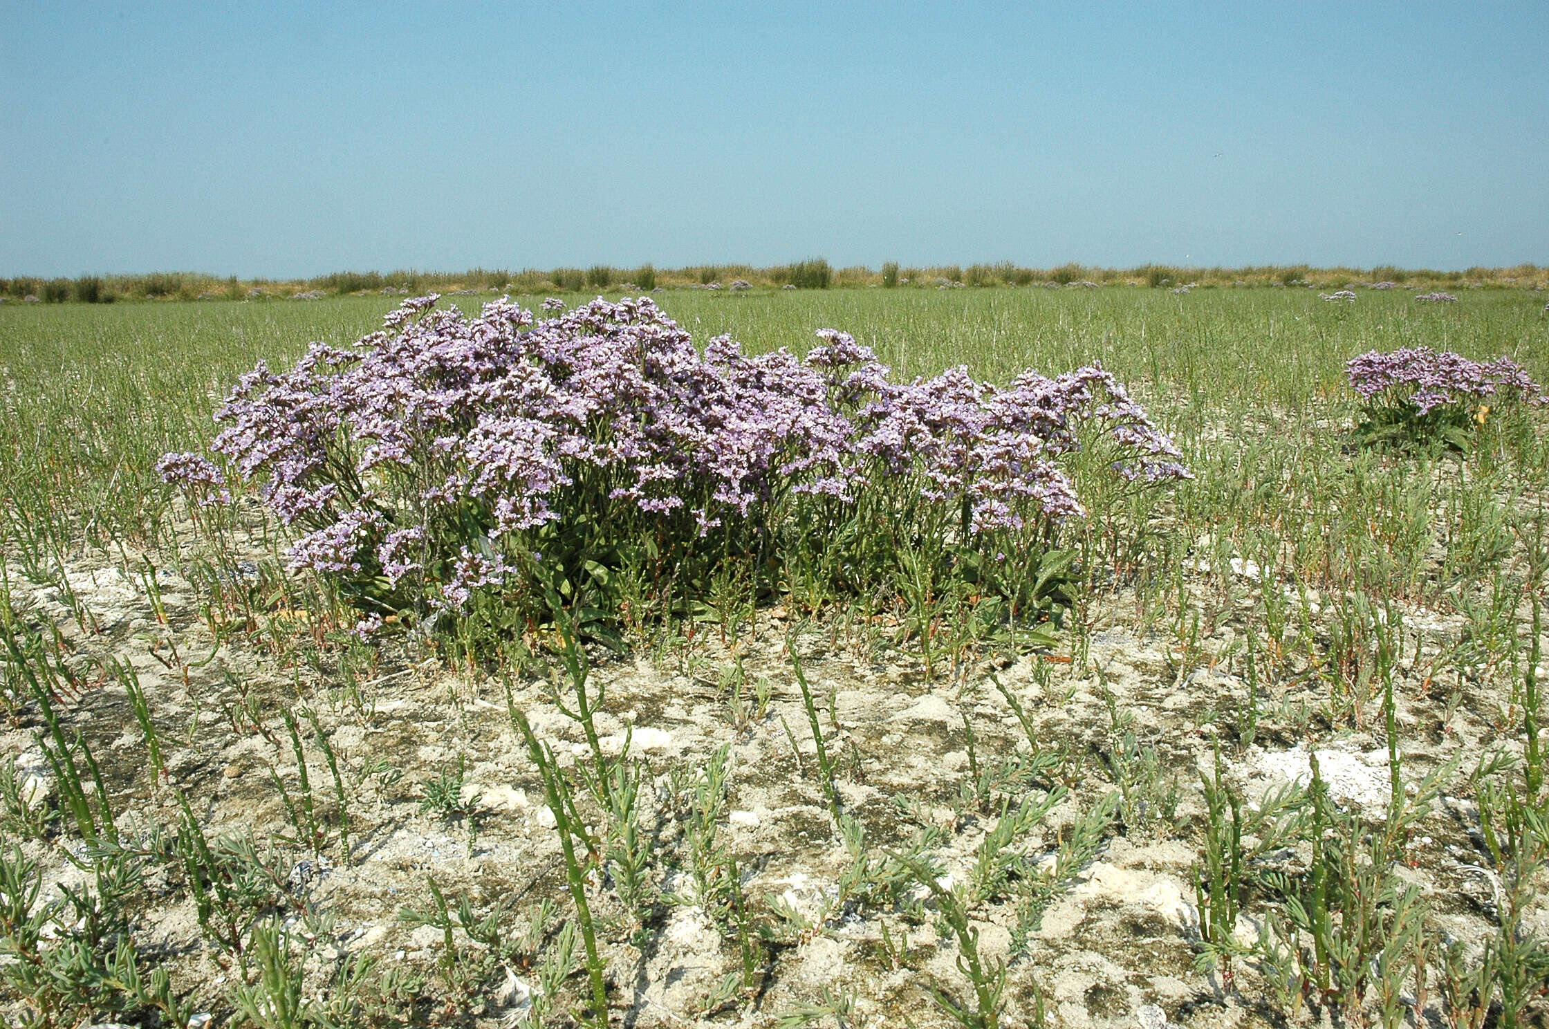
{"label": "small purple-flowered plant with dark green leaves at the right edge", "polygon": [[1492,409],[1546,403],[1543,387],[1509,356],[1472,361],[1450,350],[1369,350],[1346,364],[1363,401],[1357,432],[1368,443],[1468,451]]}

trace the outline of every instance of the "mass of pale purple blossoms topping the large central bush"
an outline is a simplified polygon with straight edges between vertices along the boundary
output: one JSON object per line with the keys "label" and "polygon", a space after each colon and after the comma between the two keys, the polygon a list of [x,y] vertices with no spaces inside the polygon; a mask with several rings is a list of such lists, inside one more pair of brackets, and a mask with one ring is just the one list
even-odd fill
{"label": "mass of pale purple blossoms topping the large central bush", "polygon": [[[406,301],[352,349],[313,344],[288,372],[260,363],[217,412],[212,449],[304,532],[294,567],[463,609],[519,572],[527,533],[582,516],[692,545],[792,494],[852,504],[906,485],[982,532],[1080,514],[1058,465],[1080,446],[1111,448],[1131,482],[1190,476],[1100,366],[895,384],[835,330],[805,358],[747,356],[726,336],[702,353],[649,298],[550,299],[547,319],[505,299],[469,319],[437,299]],[[161,471],[225,485],[197,454]]]}

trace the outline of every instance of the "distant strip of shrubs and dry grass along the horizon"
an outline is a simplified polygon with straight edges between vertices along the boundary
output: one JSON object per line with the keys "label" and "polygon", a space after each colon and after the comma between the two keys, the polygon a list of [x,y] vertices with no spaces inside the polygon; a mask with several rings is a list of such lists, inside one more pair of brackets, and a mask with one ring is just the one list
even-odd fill
{"label": "distant strip of shrubs and dry grass along the horizon", "polygon": [[8,302],[37,301],[43,304],[112,304],[115,301],[259,301],[314,299],[316,296],[349,296],[362,293],[420,296],[424,293],[638,293],[661,288],[720,288],[731,282],[750,288],[795,287],[826,290],[830,287],[883,288],[994,288],[994,287],[1090,287],[1129,285],[1179,287],[1310,287],[1393,290],[1431,290],[1427,298],[1441,298],[1437,287],[1450,288],[1549,288],[1549,268],[1516,265],[1512,268],[1468,268],[1465,271],[1377,268],[1312,268],[1309,265],[1261,265],[1244,268],[1204,268],[1179,265],[1139,265],[1135,268],[1098,268],[1066,263],[1055,268],[1027,268],[1008,260],[999,263],[900,267],[889,260],[874,271],[864,265],[833,268],[823,257],[810,257],[788,265],[757,268],[744,263],[688,265],[657,270],[654,265],[621,268],[590,265],[589,268],[472,268],[468,271],[335,271],[311,279],[237,279],[201,273],[150,273],[133,276],[81,276],[76,279],[43,279],[17,276],[0,279],[0,298]]}

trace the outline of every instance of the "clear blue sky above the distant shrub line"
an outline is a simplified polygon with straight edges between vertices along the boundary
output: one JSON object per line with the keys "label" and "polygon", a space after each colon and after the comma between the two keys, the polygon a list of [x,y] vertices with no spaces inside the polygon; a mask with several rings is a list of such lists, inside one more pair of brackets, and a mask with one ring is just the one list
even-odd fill
{"label": "clear blue sky above the distant shrub line", "polygon": [[1549,263],[1549,3],[0,0],[0,274]]}

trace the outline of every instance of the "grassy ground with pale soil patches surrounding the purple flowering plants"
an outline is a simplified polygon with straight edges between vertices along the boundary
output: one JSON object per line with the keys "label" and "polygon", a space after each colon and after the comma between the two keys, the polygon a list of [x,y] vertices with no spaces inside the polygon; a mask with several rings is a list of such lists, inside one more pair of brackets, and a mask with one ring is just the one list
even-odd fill
{"label": "grassy ground with pale soil patches surrounding the purple flowering plants", "polygon": [[1100,361],[1194,477],[1064,530],[1055,646],[793,589],[499,668],[352,638],[277,521],[155,471],[397,298],[6,304],[0,1010],[1544,1024],[1546,415],[1376,449],[1345,378],[1428,346],[1546,383],[1543,298],[666,290],[696,342],[833,327],[895,377]]}

